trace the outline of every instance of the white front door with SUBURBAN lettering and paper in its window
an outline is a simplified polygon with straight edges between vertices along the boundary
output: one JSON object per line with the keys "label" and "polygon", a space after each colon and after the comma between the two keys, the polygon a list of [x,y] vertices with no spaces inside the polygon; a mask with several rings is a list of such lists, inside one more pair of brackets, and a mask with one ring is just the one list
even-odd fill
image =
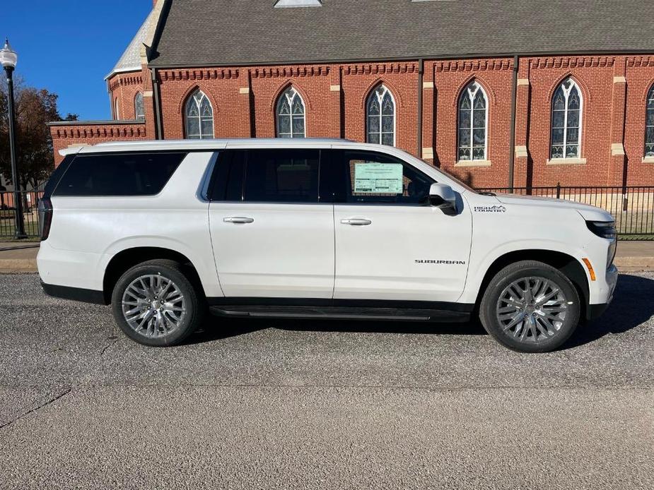
{"label": "white front door with SUBURBAN lettering and paper in its window", "polygon": [[456,301],[472,218],[428,203],[434,179],[385,153],[337,151],[334,299]]}

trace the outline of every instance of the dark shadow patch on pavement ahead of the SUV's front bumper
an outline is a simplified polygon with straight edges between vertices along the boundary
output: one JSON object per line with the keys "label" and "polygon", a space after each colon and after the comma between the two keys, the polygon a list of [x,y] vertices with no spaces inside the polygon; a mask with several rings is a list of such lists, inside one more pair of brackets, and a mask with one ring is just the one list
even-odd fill
{"label": "dark shadow patch on pavement ahead of the SUV's front bumper", "polygon": [[597,320],[580,325],[563,349],[594,342],[605,335],[625,333],[654,315],[654,280],[621,274],[614,298]]}

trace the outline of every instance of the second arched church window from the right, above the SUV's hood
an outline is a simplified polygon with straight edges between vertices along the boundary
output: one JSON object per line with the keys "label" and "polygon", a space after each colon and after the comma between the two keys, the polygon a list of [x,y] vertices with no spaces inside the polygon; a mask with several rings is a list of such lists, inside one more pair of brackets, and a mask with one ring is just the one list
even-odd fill
{"label": "second arched church window from the right, above the SUV's hood", "polygon": [[581,156],[583,98],[572,78],[566,78],[551,100],[551,158]]}

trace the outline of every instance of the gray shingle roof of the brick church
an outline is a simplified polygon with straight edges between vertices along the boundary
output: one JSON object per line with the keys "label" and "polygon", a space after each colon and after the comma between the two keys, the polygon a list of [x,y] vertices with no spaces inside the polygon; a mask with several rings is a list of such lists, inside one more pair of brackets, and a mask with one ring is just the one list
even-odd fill
{"label": "gray shingle roof of the brick church", "polygon": [[151,66],[653,52],[652,0],[168,0]]}

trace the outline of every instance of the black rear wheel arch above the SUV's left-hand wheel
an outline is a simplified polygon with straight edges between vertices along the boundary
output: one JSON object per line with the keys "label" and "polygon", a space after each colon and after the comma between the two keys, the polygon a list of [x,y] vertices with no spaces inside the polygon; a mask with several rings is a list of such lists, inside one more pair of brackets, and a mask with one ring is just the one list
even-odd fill
{"label": "black rear wheel arch above the SUV's left-hand wheel", "polygon": [[202,281],[200,280],[197,268],[183,253],[163,247],[135,246],[119,251],[107,263],[103,275],[103,296],[105,298],[105,304],[110,304],[112,291],[121,275],[136,264],[156,259],[168,259],[180,263],[185,269],[189,280],[197,288],[198,294],[204,295],[204,288],[202,287]]}

